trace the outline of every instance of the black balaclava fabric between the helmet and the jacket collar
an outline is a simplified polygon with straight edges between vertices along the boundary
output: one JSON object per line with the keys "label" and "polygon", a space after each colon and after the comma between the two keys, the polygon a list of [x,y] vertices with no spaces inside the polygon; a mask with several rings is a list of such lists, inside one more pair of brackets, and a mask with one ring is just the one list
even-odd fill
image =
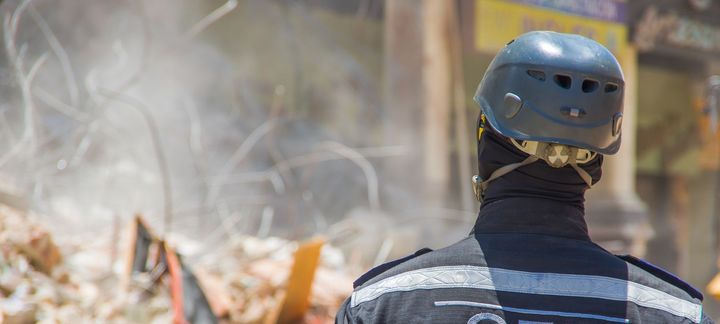
{"label": "black balaclava fabric between the helmet and the jacket collar", "polygon": [[[508,164],[523,161],[528,155],[515,148],[509,140],[496,134],[489,127],[478,141],[478,169],[480,177],[487,179],[493,171]],[[602,155],[579,165],[592,177],[592,183],[602,175]],[[492,181],[487,190],[481,210],[507,198],[540,198],[578,208],[584,213],[587,184],[570,165],[553,168],[538,160]]]}

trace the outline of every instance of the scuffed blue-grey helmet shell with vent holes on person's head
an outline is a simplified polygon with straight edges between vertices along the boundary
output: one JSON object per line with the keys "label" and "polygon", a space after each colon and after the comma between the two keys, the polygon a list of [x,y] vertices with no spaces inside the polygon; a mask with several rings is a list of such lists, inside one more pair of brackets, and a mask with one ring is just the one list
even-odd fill
{"label": "scuffed blue-grey helmet shell with vent holes on person's head", "polygon": [[536,31],[495,56],[474,99],[503,136],[614,154],[624,86],[620,64],[599,43]]}

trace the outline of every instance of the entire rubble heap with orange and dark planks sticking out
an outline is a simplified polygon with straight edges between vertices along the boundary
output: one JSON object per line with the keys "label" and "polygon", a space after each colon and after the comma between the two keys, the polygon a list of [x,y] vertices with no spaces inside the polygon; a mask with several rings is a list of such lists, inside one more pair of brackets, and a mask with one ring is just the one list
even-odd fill
{"label": "entire rubble heap with orange and dark planks sticking out", "polygon": [[352,292],[342,253],[322,239],[239,237],[199,262],[139,216],[131,230],[124,270],[98,274],[105,245],[58,246],[0,205],[0,242],[11,243],[0,244],[0,323],[332,323]]}

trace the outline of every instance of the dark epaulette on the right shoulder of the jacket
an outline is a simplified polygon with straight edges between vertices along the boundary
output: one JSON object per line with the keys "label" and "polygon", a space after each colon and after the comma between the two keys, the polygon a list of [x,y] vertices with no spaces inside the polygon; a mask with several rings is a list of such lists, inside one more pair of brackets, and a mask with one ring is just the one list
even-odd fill
{"label": "dark epaulette on the right shoulder of the jacket", "polygon": [[630,280],[640,281],[642,284],[650,284],[663,291],[669,289],[671,293],[681,291],[682,294],[675,293],[673,295],[685,295],[686,299],[695,299],[702,302],[703,294],[672,272],[632,255],[618,255],[617,257],[629,265],[628,278]]}

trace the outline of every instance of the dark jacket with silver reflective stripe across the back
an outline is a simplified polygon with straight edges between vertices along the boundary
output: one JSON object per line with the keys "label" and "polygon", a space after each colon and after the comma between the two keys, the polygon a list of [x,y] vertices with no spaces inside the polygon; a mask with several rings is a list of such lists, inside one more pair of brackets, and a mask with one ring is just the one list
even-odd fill
{"label": "dark jacket with silver reflective stripe across the back", "polygon": [[702,294],[588,237],[583,212],[545,199],[484,206],[473,233],[371,270],[337,323],[712,323]]}

